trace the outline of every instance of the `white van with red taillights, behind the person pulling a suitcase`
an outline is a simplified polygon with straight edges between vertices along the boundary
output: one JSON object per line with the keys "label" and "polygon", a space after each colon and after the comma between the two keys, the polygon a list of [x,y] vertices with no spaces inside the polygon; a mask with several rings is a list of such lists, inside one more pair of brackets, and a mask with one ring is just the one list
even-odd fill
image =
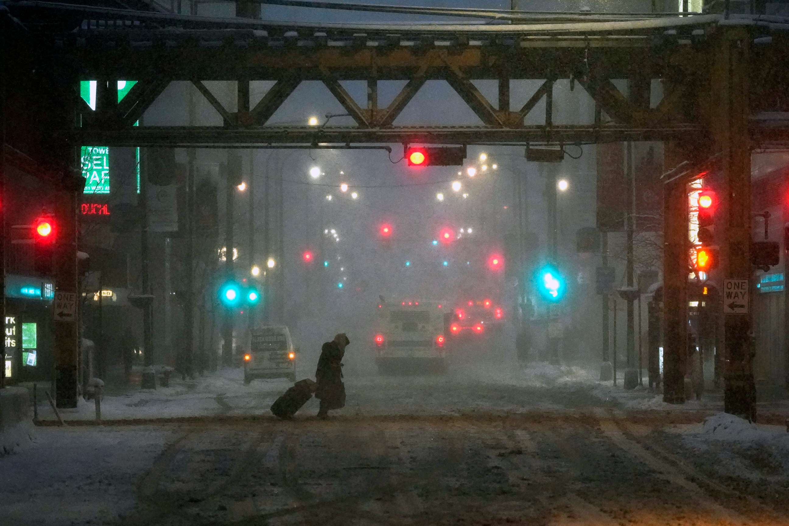
{"label": "white van with red taillights, behind the person pulling a suitcase", "polygon": [[244,355],[244,383],[256,378],[286,378],[296,381],[296,349],[284,325],[252,330],[249,353]]}

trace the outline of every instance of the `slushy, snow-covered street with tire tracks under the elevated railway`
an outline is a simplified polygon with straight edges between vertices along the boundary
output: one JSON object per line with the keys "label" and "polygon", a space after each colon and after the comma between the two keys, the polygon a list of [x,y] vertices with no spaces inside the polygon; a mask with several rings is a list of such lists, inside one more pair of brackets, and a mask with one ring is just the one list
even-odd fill
{"label": "slushy, snow-covered street with tire tracks under the elevated railway", "polygon": [[347,375],[326,421],[315,400],[276,420],[287,382],[232,369],[106,397],[109,419],[193,418],[38,427],[0,459],[0,524],[789,524],[785,426],[575,367],[487,374]]}

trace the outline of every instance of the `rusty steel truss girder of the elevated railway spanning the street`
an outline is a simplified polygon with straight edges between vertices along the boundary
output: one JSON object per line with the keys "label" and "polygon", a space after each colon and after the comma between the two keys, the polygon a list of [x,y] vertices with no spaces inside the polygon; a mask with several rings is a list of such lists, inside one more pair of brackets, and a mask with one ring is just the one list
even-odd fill
{"label": "rusty steel truss girder of the elevated railway spanning the street", "polygon": [[[710,42],[718,27],[714,17],[700,17],[698,23],[678,19],[682,24],[668,34],[656,28],[590,30],[586,34],[570,28],[564,34],[551,34],[544,29],[499,32],[479,25],[458,26],[456,32],[447,32],[443,26],[434,31],[428,31],[429,27],[376,26],[353,32],[328,25],[322,31],[316,24],[290,28],[267,22],[256,22],[263,24],[260,27],[265,31],[254,31],[252,26],[174,31],[176,26],[171,24],[191,24],[193,20],[154,17],[148,28],[140,29],[129,24],[133,13],[125,13],[120,23],[112,19],[119,13],[110,14],[103,24],[90,22],[77,32],[49,35],[43,44],[63,62],[78,65],[84,80],[108,80],[109,84],[112,80],[138,81],[121,103],[112,103],[112,96],[105,93],[97,96],[95,111],[80,106],[80,129],[60,131],[80,144],[593,143],[688,140],[689,135],[705,140],[709,136],[709,94],[714,88],[705,72],[714,51]],[[153,20],[159,28],[151,29]],[[211,27],[211,21],[200,23]],[[753,74],[762,80],[753,83],[753,89],[764,96],[750,100],[760,111],[789,110],[783,95],[766,96],[783,92],[777,88],[789,80],[786,68],[781,67],[789,49],[787,39],[780,32],[769,39],[753,61]],[[593,123],[555,125],[554,84],[561,79],[569,79],[571,87],[580,87],[594,99]],[[133,127],[174,80],[192,82],[221,116],[222,126]],[[207,80],[235,80],[239,104],[223,106],[204,84]],[[249,108],[249,82],[258,80],[274,80],[275,84]],[[271,115],[306,80],[325,84],[356,127],[316,130],[267,125]],[[346,80],[367,83],[366,104],[346,91],[342,85]],[[378,83],[386,80],[408,82],[382,107]],[[427,80],[446,81],[482,125],[394,125]],[[497,104],[485,97],[474,80],[497,82]],[[529,99],[522,107],[513,109],[510,91],[523,85],[510,84],[517,80],[542,83],[527,94]],[[615,80],[626,80],[632,92],[619,91]],[[664,84],[667,95],[653,106],[655,81]],[[525,125],[525,118],[542,100],[543,124]],[[759,125],[753,129],[757,136],[764,135]],[[767,133],[776,140],[786,136],[786,130],[786,126],[772,122]]]}

